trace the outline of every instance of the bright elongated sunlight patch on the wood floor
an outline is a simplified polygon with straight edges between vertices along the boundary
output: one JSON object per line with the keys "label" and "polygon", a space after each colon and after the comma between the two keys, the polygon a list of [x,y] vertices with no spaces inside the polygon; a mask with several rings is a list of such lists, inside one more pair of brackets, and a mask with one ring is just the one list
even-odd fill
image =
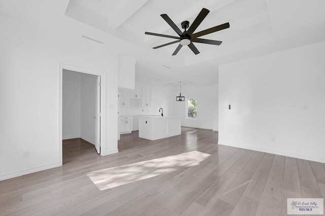
{"label": "bright elongated sunlight patch on the wood floor", "polygon": [[88,172],[87,176],[100,190],[106,190],[176,171],[181,167],[195,166],[209,156],[210,154],[191,151],[107,169],[100,169]]}

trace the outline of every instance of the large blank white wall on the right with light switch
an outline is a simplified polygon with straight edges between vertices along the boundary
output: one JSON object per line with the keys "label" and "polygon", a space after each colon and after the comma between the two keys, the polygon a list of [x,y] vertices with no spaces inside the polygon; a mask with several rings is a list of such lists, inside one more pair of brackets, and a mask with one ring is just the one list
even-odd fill
{"label": "large blank white wall on the right with light switch", "polygon": [[220,66],[219,144],[325,162],[324,56],[320,42]]}

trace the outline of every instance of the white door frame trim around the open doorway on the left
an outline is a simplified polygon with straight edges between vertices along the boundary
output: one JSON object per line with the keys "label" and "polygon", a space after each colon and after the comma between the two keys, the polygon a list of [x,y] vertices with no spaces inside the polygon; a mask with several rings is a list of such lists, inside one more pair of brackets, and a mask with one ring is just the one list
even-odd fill
{"label": "white door frame trim around the open doorway on the left", "polygon": [[96,71],[92,69],[81,68],[73,65],[61,64],[58,65],[58,75],[59,75],[59,115],[58,115],[58,134],[59,134],[59,142],[58,142],[58,155],[59,155],[59,165],[62,166],[62,79],[63,79],[63,70],[71,70],[79,73],[87,73],[101,77],[101,155],[104,156],[105,152],[105,73],[101,71]]}

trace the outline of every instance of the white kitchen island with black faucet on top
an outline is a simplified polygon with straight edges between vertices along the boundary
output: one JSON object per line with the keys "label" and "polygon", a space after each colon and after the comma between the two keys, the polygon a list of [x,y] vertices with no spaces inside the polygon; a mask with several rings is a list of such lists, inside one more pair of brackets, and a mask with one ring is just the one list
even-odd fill
{"label": "white kitchen island with black faucet on top", "polygon": [[139,137],[158,140],[181,134],[181,118],[177,116],[139,116]]}

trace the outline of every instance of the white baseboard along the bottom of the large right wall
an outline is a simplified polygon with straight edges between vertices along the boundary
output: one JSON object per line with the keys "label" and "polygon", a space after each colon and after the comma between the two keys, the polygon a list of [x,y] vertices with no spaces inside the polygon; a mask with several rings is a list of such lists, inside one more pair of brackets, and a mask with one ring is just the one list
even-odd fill
{"label": "white baseboard along the bottom of the large right wall", "polygon": [[218,145],[231,146],[231,147],[236,147],[236,148],[241,148],[241,149],[249,149],[249,150],[253,150],[253,151],[260,151],[260,152],[265,152],[265,153],[270,153],[270,154],[278,154],[278,155],[287,156],[287,157],[295,157],[295,158],[299,158],[299,159],[325,163],[325,159],[322,159],[322,158],[309,157],[309,156],[299,155],[299,154],[290,154],[290,153],[286,153],[286,152],[280,152],[280,151],[269,150],[269,149],[264,149],[264,148],[242,146],[242,145],[237,145],[237,144],[233,144],[233,143],[224,143],[224,142],[218,142]]}

